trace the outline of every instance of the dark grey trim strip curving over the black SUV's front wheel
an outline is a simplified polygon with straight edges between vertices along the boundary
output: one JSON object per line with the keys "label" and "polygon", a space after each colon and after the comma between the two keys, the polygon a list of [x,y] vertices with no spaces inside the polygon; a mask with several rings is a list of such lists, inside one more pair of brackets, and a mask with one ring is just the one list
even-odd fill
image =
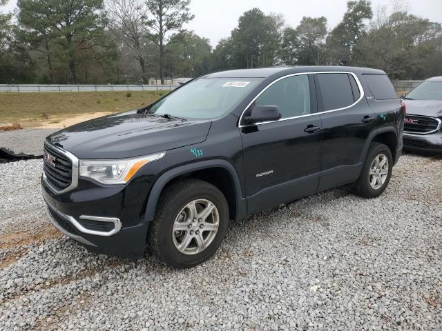
{"label": "dark grey trim strip curving over the black SUV's front wheel", "polygon": [[235,185],[236,192],[236,217],[235,219],[241,219],[247,214],[246,199],[242,195],[242,188],[238,174],[236,173],[233,165],[228,161],[222,159],[211,159],[206,161],[193,162],[186,165],[180,165],[179,167],[168,170],[162,174],[157,181],[153,184],[151,193],[149,194],[146,212],[144,214],[144,221],[149,222],[153,220],[155,216],[155,209],[157,207],[158,199],[160,199],[160,194],[171,179],[178,177],[182,174],[193,172],[195,170],[202,170],[207,168],[223,168],[227,170],[231,177],[233,178],[233,184]]}

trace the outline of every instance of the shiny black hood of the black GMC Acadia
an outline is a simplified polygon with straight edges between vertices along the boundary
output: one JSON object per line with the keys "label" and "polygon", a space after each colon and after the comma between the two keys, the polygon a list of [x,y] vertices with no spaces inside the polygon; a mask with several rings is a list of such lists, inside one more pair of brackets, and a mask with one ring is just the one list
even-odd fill
{"label": "shiny black hood of the black GMC Acadia", "polygon": [[47,140],[83,159],[119,159],[204,141],[211,121],[182,121],[123,112],[75,124]]}

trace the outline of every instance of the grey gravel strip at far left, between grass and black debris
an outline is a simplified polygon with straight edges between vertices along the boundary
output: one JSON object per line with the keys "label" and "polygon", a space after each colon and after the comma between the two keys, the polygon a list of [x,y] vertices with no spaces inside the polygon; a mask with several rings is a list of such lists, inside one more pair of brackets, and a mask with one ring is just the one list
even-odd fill
{"label": "grey gravel strip at far left, between grass and black debris", "polygon": [[60,129],[22,129],[0,132],[0,147],[6,147],[16,153],[43,154],[43,142],[49,134]]}

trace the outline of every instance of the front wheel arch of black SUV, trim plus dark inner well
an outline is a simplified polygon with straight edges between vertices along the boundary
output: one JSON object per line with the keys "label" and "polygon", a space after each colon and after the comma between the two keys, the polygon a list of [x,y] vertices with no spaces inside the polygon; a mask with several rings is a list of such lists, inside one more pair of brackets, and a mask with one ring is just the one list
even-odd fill
{"label": "front wheel arch of black SUV, trim plus dark inner well", "polygon": [[[227,176],[227,177],[223,177]],[[231,163],[222,159],[212,159],[180,165],[167,170],[153,184],[146,203],[145,221],[152,221],[155,209],[166,186],[182,178],[198,178],[215,185],[224,194],[229,203],[231,219],[246,216],[246,199],[242,195],[242,186],[238,174]],[[222,177],[223,180],[220,180]]]}

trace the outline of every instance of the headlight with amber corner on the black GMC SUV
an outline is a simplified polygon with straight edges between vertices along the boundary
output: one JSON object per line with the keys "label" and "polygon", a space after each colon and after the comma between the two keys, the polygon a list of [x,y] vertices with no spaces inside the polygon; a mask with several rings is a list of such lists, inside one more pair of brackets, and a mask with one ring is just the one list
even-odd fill
{"label": "headlight with amber corner on the black GMC SUV", "polygon": [[79,175],[95,179],[104,184],[124,184],[133,177],[143,165],[161,159],[166,152],[116,160],[80,160]]}

